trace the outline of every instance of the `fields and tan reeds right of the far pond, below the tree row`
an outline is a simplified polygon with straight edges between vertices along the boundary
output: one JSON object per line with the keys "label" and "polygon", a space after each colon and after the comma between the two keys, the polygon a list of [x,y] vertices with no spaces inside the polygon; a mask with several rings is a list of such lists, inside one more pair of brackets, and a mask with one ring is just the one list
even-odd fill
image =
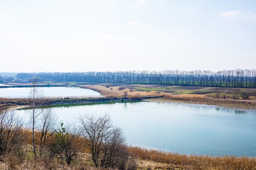
{"label": "fields and tan reeds right of the far pond, below the tree row", "polygon": [[[105,97],[128,97],[130,100],[207,104],[236,110],[256,111],[256,89],[254,88],[214,88],[141,84],[96,84],[79,86],[98,91]],[[248,95],[248,99],[242,98],[242,92]]]}

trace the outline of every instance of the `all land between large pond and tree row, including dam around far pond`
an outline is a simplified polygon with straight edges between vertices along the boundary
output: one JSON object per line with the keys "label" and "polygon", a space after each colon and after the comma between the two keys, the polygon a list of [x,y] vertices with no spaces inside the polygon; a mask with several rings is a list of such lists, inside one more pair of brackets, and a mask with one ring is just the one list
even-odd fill
{"label": "all land between large pond and tree row, including dam around far pond", "polygon": [[[29,84],[9,84],[12,86],[28,86]],[[143,84],[88,84],[76,82],[42,82],[40,86],[79,86],[98,91],[101,98],[57,99],[47,98],[45,104],[66,105],[106,102],[129,102],[149,100],[158,102],[175,102],[188,104],[207,104],[236,110],[256,111],[255,88],[218,88],[195,86],[164,86]],[[246,94],[243,99],[241,94]],[[25,99],[0,99],[0,106],[20,108],[27,106]]]}

